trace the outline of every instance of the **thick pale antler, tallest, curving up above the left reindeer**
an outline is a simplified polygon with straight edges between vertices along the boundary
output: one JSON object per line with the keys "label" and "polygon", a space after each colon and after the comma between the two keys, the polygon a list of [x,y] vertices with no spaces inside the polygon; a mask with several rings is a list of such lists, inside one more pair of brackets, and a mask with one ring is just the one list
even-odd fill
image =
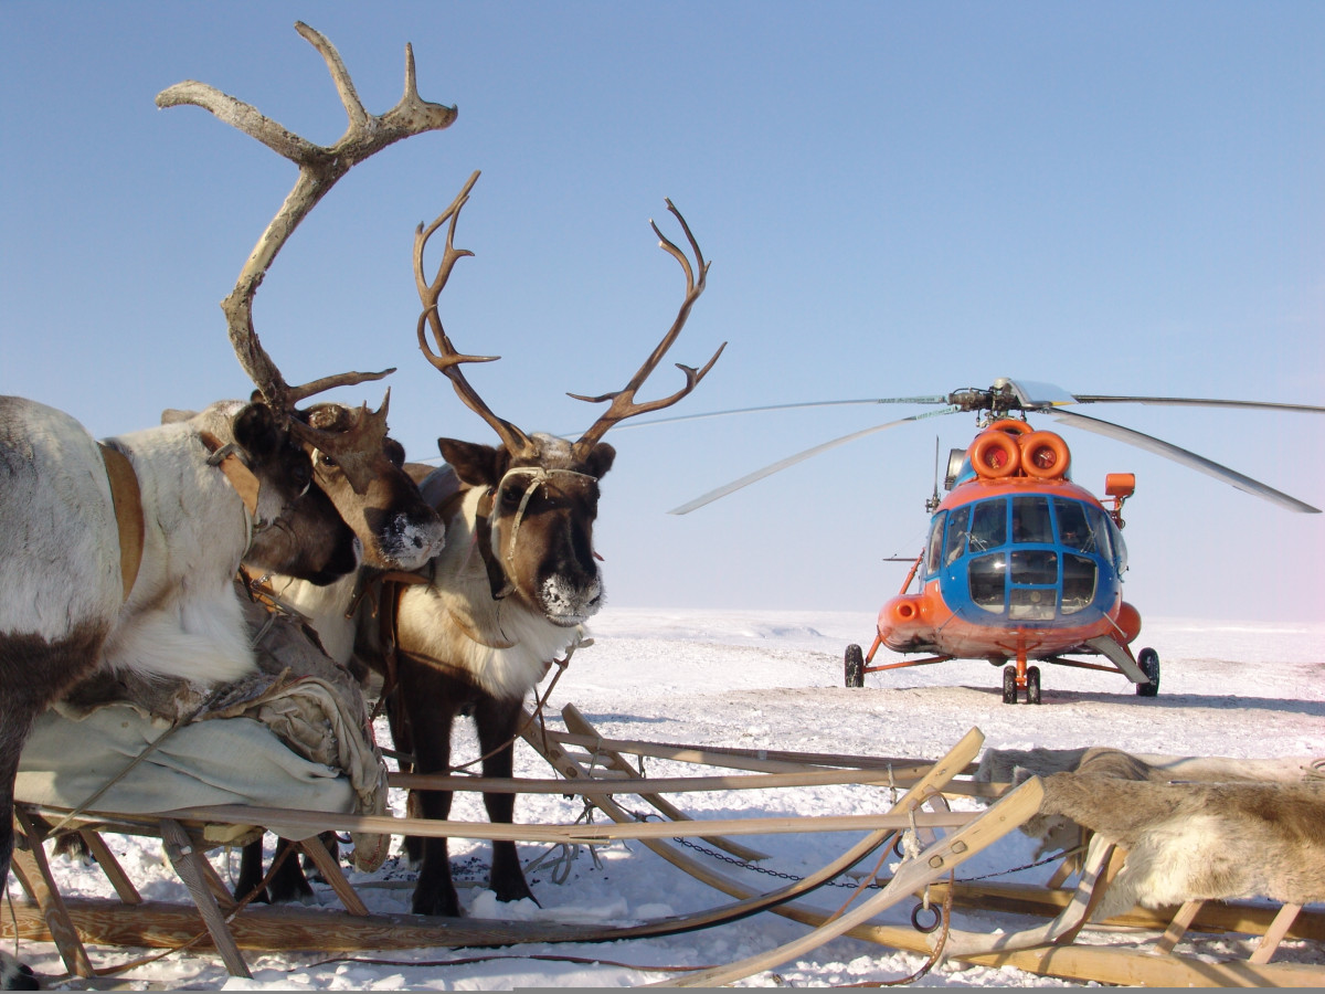
{"label": "thick pale antler, tallest, curving up above the left reindeer", "polygon": [[[305,383],[301,387],[289,386],[276,363],[262,349],[257,331],[253,329],[253,297],[266,276],[266,270],[299,221],[317,207],[341,176],[356,163],[401,138],[449,127],[456,119],[457,110],[420,99],[415,78],[413,49],[405,45],[404,94],[399,103],[386,114],[380,117],[368,114],[359,102],[359,94],[355,91],[350,73],[346,70],[344,62],[341,61],[335,46],[302,21],[295,21],[294,29],[322,54],[341,95],[341,103],[350,118],[348,127],[335,144],[330,147],[314,144],[276,121],[264,117],[256,107],[221,93],[208,83],[192,80],[162,90],[156,94],[156,106],[175,107],[187,103],[203,107],[220,121],[250,138],[256,138],[268,148],[298,166],[299,176],[294,188],[262,232],[240,270],[235,290],[221,302],[221,309],[225,311],[231,343],[235,346],[240,366],[262,392],[268,404],[284,414],[290,421],[290,429],[305,440],[318,448],[337,449],[343,448],[343,445],[337,445],[334,436],[327,432],[311,432],[294,419],[294,406],[331,387],[382,379],[395,370],[342,372]],[[370,425],[370,421],[380,421],[380,425]],[[386,404],[372,415],[364,407],[360,415],[360,429],[384,433]]]}

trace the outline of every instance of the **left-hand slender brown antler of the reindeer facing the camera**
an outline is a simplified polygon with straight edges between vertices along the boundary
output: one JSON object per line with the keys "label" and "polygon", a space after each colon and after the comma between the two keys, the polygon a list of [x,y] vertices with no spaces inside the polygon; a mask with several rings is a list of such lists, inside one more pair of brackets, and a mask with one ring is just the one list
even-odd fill
{"label": "left-hand slender brown antler of the reindeer facing the camera", "polygon": [[[506,445],[506,451],[511,456],[519,456],[522,453],[533,452],[534,443],[530,437],[517,428],[510,421],[498,417],[493,414],[492,408],[478,396],[469,380],[465,379],[465,374],[461,371],[461,364],[466,362],[494,362],[500,359],[500,355],[461,355],[456,351],[456,347],[450,343],[450,338],[447,335],[445,329],[441,326],[441,314],[437,310],[437,301],[441,297],[441,292],[447,286],[447,281],[450,278],[450,270],[456,268],[458,262],[465,256],[473,256],[474,253],[469,249],[457,249],[454,244],[456,239],[456,223],[460,220],[460,211],[469,201],[469,191],[473,190],[474,183],[478,180],[478,172],[476,171],[465,186],[461,188],[456,199],[450,201],[450,207],[443,211],[437,220],[424,228],[423,224],[415,231],[415,252],[413,252],[413,265],[415,265],[415,286],[419,289],[419,300],[423,302],[423,313],[419,315],[419,347],[423,350],[424,357],[437,368],[447,379],[450,380],[450,386],[454,387],[456,395],[464,402],[465,407],[473,411],[476,415],[482,417],[497,432],[497,437],[502,440]],[[428,240],[436,233],[436,231],[450,221],[447,228],[447,248],[443,250],[441,262],[437,266],[437,276],[429,282],[423,274],[423,252],[428,244]],[[432,327],[432,338],[437,343],[436,351],[428,345],[428,338],[424,335],[424,326],[429,325]]]}

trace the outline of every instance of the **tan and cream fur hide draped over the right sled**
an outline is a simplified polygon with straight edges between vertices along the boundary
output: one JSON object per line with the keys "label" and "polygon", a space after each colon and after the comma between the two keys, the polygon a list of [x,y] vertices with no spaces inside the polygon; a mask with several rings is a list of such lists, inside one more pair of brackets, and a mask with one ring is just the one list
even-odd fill
{"label": "tan and cream fur hide draped over the right sled", "polygon": [[[1040,812],[1023,831],[1043,840],[1041,851],[1077,827],[1126,851],[1096,920],[1136,904],[1325,900],[1325,781],[1230,779],[1227,769],[1222,782],[1174,781],[1114,749],[1036,751],[1019,757],[1012,777],[1047,773]],[[999,766],[1007,757],[982,761],[988,779]]]}

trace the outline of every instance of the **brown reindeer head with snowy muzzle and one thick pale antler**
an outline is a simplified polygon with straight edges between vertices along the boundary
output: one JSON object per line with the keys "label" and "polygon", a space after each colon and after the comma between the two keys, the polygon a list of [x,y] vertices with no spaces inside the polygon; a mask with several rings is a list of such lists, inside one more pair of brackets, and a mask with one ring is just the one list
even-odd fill
{"label": "brown reindeer head with snowy muzzle and one thick pale antler", "polygon": [[[449,127],[456,109],[419,98],[413,52],[407,45],[404,94],[386,114],[368,114],[335,48],[306,24],[294,27],[322,54],[348,115],[348,127],[334,146],[313,144],[256,107],[200,82],[176,83],[159,93],[156,103],[200,106],[298,166],[294,188],[258,239],[233,292],[221,302],[231,343],[270,408],[274,429],[311,459],[321,490],[362,541],[367,562],[382,569],[417,569],[441,549],[444,526],[400,468],[399,447],[392,448],[395,443],[387,439],[387,403],[375,412],[367,406],[358,411],[338,404],[318,404],[309,411],[295,407],[330,387],[382,379],[392,370],[344,372],[290,387],[253,329],[253,297],[286,239],[341,176],[394,142]],[[315,513],[315,502],[310,501],[307,514]],[[325,505],[319,506],[325,510]]]}

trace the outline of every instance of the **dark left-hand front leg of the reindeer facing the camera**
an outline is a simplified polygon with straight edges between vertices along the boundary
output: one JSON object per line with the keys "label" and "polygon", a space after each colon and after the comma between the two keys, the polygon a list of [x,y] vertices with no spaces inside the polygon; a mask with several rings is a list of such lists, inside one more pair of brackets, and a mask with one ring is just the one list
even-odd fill
{"label": "dark left-hand front leg of the reindeer facing the camera", "polygon": [[[450,726],[456,701],[465,693],[462,684],[421,665],[401,665],[400,693],[409,720],[416,773],[445,773],[450,767]],[[445,822],[450,815],[449,790],[411,791],[411,814]],[[416,840],[417,842],[417,840]],[[450,852],[447,839],[424,839],[415,884],[415,914],[460,917],[460,899],[450,879]],[[415,850],[411,850],[411,855]]]}

